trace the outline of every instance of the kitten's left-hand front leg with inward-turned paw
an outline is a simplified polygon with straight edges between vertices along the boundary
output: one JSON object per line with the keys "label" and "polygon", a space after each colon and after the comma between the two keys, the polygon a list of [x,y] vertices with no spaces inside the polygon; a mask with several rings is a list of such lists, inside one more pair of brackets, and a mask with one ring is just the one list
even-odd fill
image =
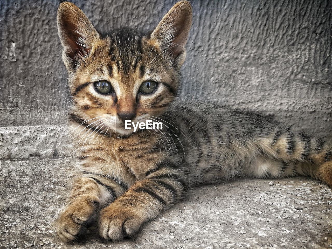
{"label": "kitten's left-hand front leg with inward-turned paw", "polygon": [[77,176],[67,207],[57,219],[60,238],[69,241],[85,234],[100,208],[109,205],[123,192],[123,187],[110,178],[93,174]]}

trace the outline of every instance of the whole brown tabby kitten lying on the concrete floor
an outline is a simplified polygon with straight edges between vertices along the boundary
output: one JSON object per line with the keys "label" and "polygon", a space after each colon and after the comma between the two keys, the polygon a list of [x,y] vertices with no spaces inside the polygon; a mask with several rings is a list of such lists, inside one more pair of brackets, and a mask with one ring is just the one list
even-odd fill
{"label": "whole brown tabby kitten lying on the concrete floor", "polygon": [[[195,185],[303,175],[332,186],[331,147],[322,139],[259,114],[176,98],[191,22],[190,3],[181,1],[152,32],[105,34],[74,4],[60,4],[69,127],[82,168],[57,220],[64,241],[97,217],[101,237],[122,240]],[[163,129],[133,132],[126,120]]]}

